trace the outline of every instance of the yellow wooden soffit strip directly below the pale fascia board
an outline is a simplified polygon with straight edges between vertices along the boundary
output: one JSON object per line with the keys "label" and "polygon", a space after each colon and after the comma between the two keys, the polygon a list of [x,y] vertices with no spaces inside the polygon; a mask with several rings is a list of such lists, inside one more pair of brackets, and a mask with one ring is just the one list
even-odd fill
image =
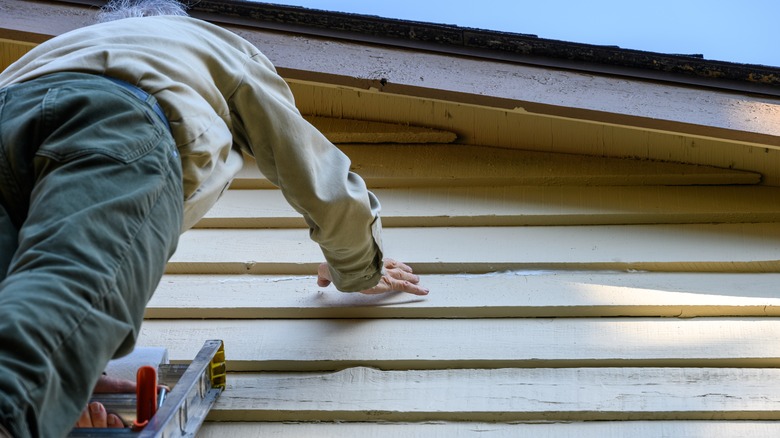
{"label": "yellow wooden soffit strip directly below the pale fascia board", "polygon": [[576,118],[554,118],[486,106],[347,87],[288,81],[299,109],[330,117],[405,121],[451,130],[462,144],[590,156],[660,160],[751,170],[780,185],[780,150],[714,136],[686,136]]}

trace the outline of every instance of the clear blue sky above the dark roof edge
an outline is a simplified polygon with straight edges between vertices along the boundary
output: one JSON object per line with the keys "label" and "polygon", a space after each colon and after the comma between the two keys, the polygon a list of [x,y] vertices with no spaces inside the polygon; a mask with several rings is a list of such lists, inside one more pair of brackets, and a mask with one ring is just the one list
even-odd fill
{"label": "clear blue sky above the dark roof edge", "polygon": [[780,0],[267,2],[780,67]]}

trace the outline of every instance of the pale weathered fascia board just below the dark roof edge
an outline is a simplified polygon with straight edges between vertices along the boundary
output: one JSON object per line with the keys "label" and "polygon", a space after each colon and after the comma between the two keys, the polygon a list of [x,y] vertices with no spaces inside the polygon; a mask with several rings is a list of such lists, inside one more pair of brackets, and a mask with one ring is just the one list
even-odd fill
{"label": "pale weathered fascia board just below the dark roof edge", "polygon": [[[40,42],[84,26],[94,15],[93,9],[74,5],[39,6],[17,0],[0,0],[0,5],[5,8],[0,28],[24,29],[21,35],[12,35],[25,41]],[[281,74],[299,81],[678,135],[714,132],[737,141],[778,144],[780,128],[774,123],[778,100],[760,95],[223,26],[261,47]],[[512,86],[507,86],[508,78]],[[338,108],[327,100],[322,105]]]}

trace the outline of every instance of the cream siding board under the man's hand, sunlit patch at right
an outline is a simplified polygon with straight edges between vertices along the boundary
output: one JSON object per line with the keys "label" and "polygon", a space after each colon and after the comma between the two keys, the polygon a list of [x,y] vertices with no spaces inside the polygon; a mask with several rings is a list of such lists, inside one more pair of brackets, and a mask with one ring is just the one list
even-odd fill
{"label": "cream siding board under the man's hand, sunlit patch at right", "polygon": [[314,276],[167,275],[146,317],[780,316],[780,274],[517,271],[422,282],[426,297],[341,293]]}

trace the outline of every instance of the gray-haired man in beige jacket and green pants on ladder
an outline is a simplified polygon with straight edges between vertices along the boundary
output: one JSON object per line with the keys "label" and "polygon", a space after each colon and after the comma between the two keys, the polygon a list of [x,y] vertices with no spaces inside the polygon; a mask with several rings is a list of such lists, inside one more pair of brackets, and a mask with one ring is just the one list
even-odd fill
{"label": "gray-haired man in beige jacket and green pants on ladder", "polygon": [[92,389],[242,154],[305,218],[319,286],[428,293],[384,258],[376,197],[255,46],[174,0],[101,17],[0,73],[0,429],[15,437],[108,421],[83,418]]}

